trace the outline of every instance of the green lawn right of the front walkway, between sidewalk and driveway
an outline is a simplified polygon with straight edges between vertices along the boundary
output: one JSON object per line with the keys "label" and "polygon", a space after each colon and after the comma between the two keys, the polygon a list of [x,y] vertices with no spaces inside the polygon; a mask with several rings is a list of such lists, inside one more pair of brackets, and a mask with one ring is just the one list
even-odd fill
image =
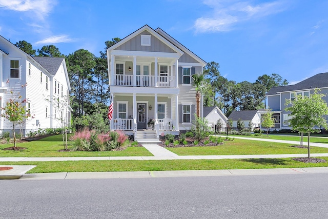
{"label": "green lawn right of the front walkway, between sidewalk and driveway", "polygon": [[[244,154],[306,154],[307,148],[290,147],[291,144],[260,142],[235,138],[223,145],[207,147],[167,148],[178,155],[244,155]],[[310,147],[311,153],[328,153],[328,148]]]}

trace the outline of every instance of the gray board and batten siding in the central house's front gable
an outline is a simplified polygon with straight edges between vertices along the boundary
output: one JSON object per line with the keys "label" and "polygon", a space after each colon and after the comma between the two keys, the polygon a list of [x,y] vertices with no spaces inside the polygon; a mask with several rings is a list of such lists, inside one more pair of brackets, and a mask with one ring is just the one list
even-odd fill
{"label": "gray board and batten siding in the central house's front gable", "polygon": [[[141,35],[151,35],[151,46],[141,46]],[[161,42],[160,39],[152,35],[147,30],[143,31],[141,34],[136,35],[135,37],[133,37],[126,43],[118,46],[114,50],[176,53],[173,49]]]}

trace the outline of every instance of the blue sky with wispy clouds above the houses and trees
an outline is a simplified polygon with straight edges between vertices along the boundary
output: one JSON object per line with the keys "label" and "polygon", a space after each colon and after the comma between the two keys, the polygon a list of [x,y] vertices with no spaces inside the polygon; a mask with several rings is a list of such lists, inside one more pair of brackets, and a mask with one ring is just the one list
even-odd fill
{"label": "blue sky with wispy clouds above the houses and trees", "polygon": [[0,34],[99,56],[105,41],[147,24],[219,63],[229,80],[277,73],[295,83],[328,72],[327,9],[326,0],[0,0]]}

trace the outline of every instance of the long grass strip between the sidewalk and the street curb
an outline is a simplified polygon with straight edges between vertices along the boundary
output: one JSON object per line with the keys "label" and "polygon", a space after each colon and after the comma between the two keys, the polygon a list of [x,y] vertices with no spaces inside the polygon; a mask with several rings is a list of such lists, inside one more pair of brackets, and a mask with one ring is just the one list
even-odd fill
{"label": "long grass strip between the sidewalk and the street curb", "polygon": [[[328,157],[318,157],[328,160]],[[165,170],[220,170],[328,167],[328,163],[302,163],[291,158],[256,158],[234,160],[167,160],[167,161],[60,161],[0,162],[0,165],[37,165],[28,173],[117,172]]]}

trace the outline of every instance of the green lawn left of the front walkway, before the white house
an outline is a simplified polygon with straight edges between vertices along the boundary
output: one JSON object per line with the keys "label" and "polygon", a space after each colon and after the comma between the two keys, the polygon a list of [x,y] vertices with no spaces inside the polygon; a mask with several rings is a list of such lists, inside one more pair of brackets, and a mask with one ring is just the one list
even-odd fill
{"label": "green lawn left of the front walkway, before the white house", "polygon": [[[65,151],[61,135],[45,137],[37,141],[17,143],[17,147],[27,148],[22,151],[1,150],[12,147],[13,144],[0,145],[0,157],[68,157],[68,156],[153,156],[144,147],[128,147],[122,151]],[[68,143],[68,148],[73,148],[73,142]]]}

